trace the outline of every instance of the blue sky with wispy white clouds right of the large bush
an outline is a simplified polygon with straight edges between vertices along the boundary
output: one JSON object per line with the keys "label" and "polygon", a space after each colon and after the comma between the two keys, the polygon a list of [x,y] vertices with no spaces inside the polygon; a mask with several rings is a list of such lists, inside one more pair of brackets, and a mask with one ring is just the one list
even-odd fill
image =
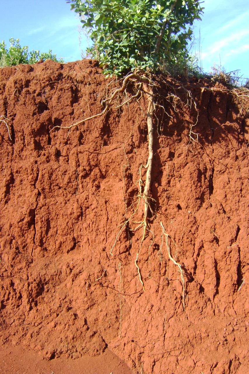
{"label": "blue sky with wispy white clouds right of the large bush", "polygon": [[209,72],[216,63],[227,72],[240,69],[240,75],[249,78],[249,1],[206,0],[199,28],[203,69]]}

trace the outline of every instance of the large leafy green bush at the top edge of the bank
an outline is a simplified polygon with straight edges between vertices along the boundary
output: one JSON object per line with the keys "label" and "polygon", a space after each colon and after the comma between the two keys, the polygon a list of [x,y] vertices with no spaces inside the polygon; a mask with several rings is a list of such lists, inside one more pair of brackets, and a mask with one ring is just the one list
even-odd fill
{"label": "large leafy green bush at the top edge of the bank", "polygon": [[106,74],[155,71],[186,54],[199,0],[69,0],[90,33],[92,54]]}

